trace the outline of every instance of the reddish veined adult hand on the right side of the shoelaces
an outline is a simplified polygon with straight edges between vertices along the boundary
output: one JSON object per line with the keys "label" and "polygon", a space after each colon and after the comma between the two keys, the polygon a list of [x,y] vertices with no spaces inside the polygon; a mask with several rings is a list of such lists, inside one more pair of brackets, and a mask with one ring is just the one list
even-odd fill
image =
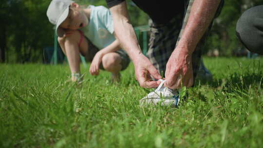
{"label": "reddish veined adult hand on the right side of the shoelaces", "polygon": [[165,86],[180,89],[193,85],[192,55],[186,52],[173,52],[166,64]]}

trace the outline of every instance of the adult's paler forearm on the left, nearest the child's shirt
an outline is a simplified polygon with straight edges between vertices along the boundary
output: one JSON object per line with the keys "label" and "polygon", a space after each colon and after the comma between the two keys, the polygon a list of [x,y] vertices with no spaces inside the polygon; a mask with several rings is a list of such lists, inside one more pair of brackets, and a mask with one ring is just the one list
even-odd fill
{"label": "adult's paler forearm on the left, nearest the child's shirt", "polygon": [[135,32],[130,23],[126,2],[122,2],[110,8],[113,15],[114,32],[121,47],[127,52],[131,60],[142,54]]}

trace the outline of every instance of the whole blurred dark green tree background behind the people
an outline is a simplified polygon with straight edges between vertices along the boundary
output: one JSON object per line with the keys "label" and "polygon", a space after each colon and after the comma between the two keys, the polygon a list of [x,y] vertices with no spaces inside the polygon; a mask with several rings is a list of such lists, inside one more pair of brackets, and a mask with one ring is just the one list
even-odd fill
{"label": "whole blurred dark green tree background behind the people", "polygon": [[[46,10],[51,0],[1,0],[0,62],[49,63],[54,50],[54,29]],[[85,5],[104,5],[105,0],[76,0]],[[148,16],[127,0],[134,27],[148,24]],[[214,21],[204,49],[206,56],[247,56],[247,50],[235,33],[236,22],[250,7],[263,0],[225,0],[221,15]],[[63,54],[58,50],[58,59]]]}

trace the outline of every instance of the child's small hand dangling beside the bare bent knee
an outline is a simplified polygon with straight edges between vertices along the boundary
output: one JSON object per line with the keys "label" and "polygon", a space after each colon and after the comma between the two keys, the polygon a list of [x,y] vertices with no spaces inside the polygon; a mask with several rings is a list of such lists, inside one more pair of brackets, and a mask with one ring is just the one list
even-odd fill
{"label": "child's small hand dangling beside the bare bent knee", "polygon": [[98,75],[99,74],[99,65],[102,61],[102,54],[97,52],[94,56],[91,66],[90,66],[90,74],[91,75]]}

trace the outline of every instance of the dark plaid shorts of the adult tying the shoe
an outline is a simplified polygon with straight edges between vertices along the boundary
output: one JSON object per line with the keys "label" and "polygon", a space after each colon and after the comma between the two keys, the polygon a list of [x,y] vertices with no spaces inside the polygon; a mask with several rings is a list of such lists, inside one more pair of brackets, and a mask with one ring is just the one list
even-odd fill
{"label": "dark plaid shorts of the adult tying the shoe", "polygon": [[[147,56],[150,59],[153,66],[159,71],[159,73],[164,76],[165,70],[166,70],[166,64],[169,60],[169,57],[171,56],[171,53],[175,49],[176,41],[180,39],[181,30],[184,29],[186,26],[187,20],[184,18],[187,18],[192,1],[189,0],[187,4],[187,10],[186,14],[178,14],[174,17],[174,19],[171,19],[169,23],[167,24],[156,24],[149,21],[150,26],[150,41],[149,41],[149,50],[147,52]],[[217,13],[214,18],[216,18],[223,7],[224,0],[221,0],[221,3],[219,5],[219,8],[217,10]],[[184,20],[184,21],[183,21]],[[202,56],[202,48],[205,45],[207,36],[209,34],[209,31],[211,29],[212,23],[208,27],[206,33],[201,38],[199,43],[197,44],[193,54],[192,54],[192,68],[193,68],[193,74],[194,78],[196,77],[196,74],[199,69],[201,56]]]}

